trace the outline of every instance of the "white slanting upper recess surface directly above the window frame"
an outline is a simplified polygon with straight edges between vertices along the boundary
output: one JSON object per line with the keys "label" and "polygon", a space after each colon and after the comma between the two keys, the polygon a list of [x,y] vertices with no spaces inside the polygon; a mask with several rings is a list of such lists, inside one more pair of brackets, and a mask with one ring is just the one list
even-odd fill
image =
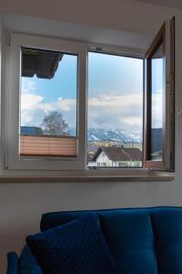
{"label": "white slanting upper recess surface directly above the window frame", "polygon": [[[64,37],[116,47],[135,47],[144,52],[153,36],[55,21],[45,18],[2,15],[3,28],[8,31],[29,33],[47,37]],[[132,49],[132,48],[131,48]]]}

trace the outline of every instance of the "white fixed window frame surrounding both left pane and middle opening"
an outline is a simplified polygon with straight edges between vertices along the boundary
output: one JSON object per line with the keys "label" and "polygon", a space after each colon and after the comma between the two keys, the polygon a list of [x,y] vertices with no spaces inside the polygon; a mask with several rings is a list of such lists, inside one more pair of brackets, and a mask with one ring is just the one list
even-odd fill
{"label": "white fixed window frame surrounding both left pane and middle opening", "polygon": [[[87,54],[89,51],[115,54],[130,58],[145,59],[145,52],[131,48],[107,47],[93,45],[86,42],[66,40],[52,37],[39,37],[17,33],[5,33],[10,37],[10,43],[5,39],[5,60],[4,60],[4,84],[3,84],[3,153],[5,168],[13,170],[29,171],[78,171],[84,175],[102,175],[109,173],[116,176],[146,172],[145,166],[138,168],[92,168],[86,165],[87,148]],[[9,41],[9,39],[8,39]],[[76,54],[78,56],[78,87],[77,87],[77,137],[78,155],[76,158],[36,158],[20,157],[18,152],[19,141],[19,98],[20,98],[20,48],[30,47],[52,51]],[[145,105],[143,105],[144,107]],[[145,119],[145,117],[144,117]],[[144,131],[145,134],[145,131]],[[145,139],[145,136],[143,140]],[[146,147],[144,145],[145,153]],[[112,170],[112,172],[111,172]]]}

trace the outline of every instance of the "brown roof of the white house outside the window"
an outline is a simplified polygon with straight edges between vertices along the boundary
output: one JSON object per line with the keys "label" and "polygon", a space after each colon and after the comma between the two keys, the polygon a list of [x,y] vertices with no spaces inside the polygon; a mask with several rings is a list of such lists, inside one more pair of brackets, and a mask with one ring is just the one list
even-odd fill
{"label": "brown roof of the white house outside the window", "polygon": [[138,148],[124,148],[124,147],[99,147],[93,156],[92,161],[96,161],[96,158],[100,153],[106,153],[109,160],[113,162],[117,161],[142,161],[142,152]]}

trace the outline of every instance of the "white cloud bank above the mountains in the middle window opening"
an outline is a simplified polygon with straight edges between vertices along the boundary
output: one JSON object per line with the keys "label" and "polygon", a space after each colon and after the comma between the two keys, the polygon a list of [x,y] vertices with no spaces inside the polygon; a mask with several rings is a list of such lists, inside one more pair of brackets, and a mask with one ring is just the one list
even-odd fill
{"label": "white cloud bank above the mountains in the middle window opening", "polygon": [[143,99],[135,93],[99,95],[89,100],[88,127],[142,132]]}

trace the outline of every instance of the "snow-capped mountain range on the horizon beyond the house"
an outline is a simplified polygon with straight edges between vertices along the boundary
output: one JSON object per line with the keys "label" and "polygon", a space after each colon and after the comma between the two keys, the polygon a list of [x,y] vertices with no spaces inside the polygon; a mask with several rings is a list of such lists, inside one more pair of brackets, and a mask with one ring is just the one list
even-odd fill
{"label": "snow-capped mountain range on the horizon beyond the house", "polygon": [[88,142],[93,141],[117,141],[117,142],[142,142],[142,133],[125,132],[124,130],[106,131],[88,129]]}

